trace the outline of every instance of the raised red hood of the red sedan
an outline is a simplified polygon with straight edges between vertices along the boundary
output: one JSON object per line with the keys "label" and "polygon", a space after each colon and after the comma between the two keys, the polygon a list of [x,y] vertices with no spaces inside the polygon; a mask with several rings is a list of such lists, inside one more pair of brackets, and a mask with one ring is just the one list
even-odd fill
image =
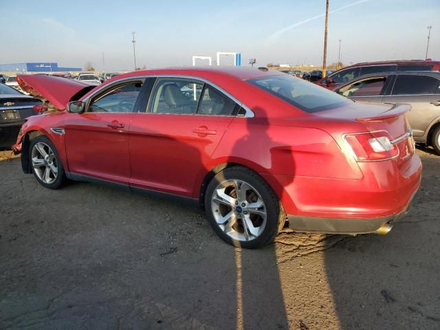
{"label": "raised red hood of the red sedan", "polygon": [[43,74],[23,74],[17,76],[17,82],[24,91],[41,100],[47,100],[60,111],[65,110],[67,103],[73,98],[78,99],[96,87]]}

